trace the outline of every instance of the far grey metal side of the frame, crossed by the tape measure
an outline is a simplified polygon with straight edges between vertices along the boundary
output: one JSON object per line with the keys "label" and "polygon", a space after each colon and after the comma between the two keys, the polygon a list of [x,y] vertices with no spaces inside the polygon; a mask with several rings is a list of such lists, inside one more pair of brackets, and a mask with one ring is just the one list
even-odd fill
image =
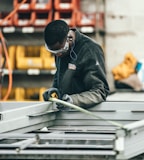
{"label": "far grey metal side of the frame, crossed by the tape measure", "polygon": [[[88,109],[105,120],[120,124],[129,124],[144,118],[143,102],[103,102]],[[58,112],[55,120],[56,126],[112,126],[103,119],[95,118],[85,113],[71,111]],[[116,127],[116,126],[115,126]]]}

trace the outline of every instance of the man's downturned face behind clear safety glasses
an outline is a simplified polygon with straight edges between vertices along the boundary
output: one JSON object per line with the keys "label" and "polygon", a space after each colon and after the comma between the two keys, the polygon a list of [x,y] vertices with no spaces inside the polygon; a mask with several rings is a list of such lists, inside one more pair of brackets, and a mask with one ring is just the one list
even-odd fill
{"label": "man's downturned face behind clear safety glasses", "polygon": [[45,44],[45,47],[49,52],[53,53],[56,56],[64,56],[69,51],[69,40],[66,38],[66,40],[62,44],[57,42],[50,47]]}

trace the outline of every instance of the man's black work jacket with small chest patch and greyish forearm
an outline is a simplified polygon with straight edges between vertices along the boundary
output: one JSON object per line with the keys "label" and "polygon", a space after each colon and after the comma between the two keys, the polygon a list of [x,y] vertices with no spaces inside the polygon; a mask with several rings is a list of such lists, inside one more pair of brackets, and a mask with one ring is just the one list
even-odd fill
{"label": "man's black work jacket with small chest patch and greyish forearm", "polygon": [[105,101],[109,86],[102,48],[78,30],[75,33],[71,54],[55,57],[57,71],[53,87],[61,95],[69,94],[75,105],[86,108]]}

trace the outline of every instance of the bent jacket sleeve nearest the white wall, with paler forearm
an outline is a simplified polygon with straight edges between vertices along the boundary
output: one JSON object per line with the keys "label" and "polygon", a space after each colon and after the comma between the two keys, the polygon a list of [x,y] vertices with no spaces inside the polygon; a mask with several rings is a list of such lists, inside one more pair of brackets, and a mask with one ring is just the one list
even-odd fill
{"label": "bent jacket sleeve nearest the white wall, with paler forearm", "polygon": [[105,101],[109,93],[101,47],[94,51],[89,49],[87,52],[87,57],[83,58],[82,65],[86,91],[71,95],[73,103],[83,108]]}

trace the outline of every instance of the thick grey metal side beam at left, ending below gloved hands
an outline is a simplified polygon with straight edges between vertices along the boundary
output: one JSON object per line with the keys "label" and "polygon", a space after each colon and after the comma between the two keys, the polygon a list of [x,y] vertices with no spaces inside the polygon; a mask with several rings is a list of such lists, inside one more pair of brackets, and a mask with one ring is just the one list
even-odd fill
{"label": "thick grey metal side beam at left, ending below gloved hands", "polygon": [[[0,103],[0,133],[33,131],[55,120],[55,110],[50,102]],[[43,124],[42,124],[43,123]],[[30,130],[33,129],[33,130]]]}

